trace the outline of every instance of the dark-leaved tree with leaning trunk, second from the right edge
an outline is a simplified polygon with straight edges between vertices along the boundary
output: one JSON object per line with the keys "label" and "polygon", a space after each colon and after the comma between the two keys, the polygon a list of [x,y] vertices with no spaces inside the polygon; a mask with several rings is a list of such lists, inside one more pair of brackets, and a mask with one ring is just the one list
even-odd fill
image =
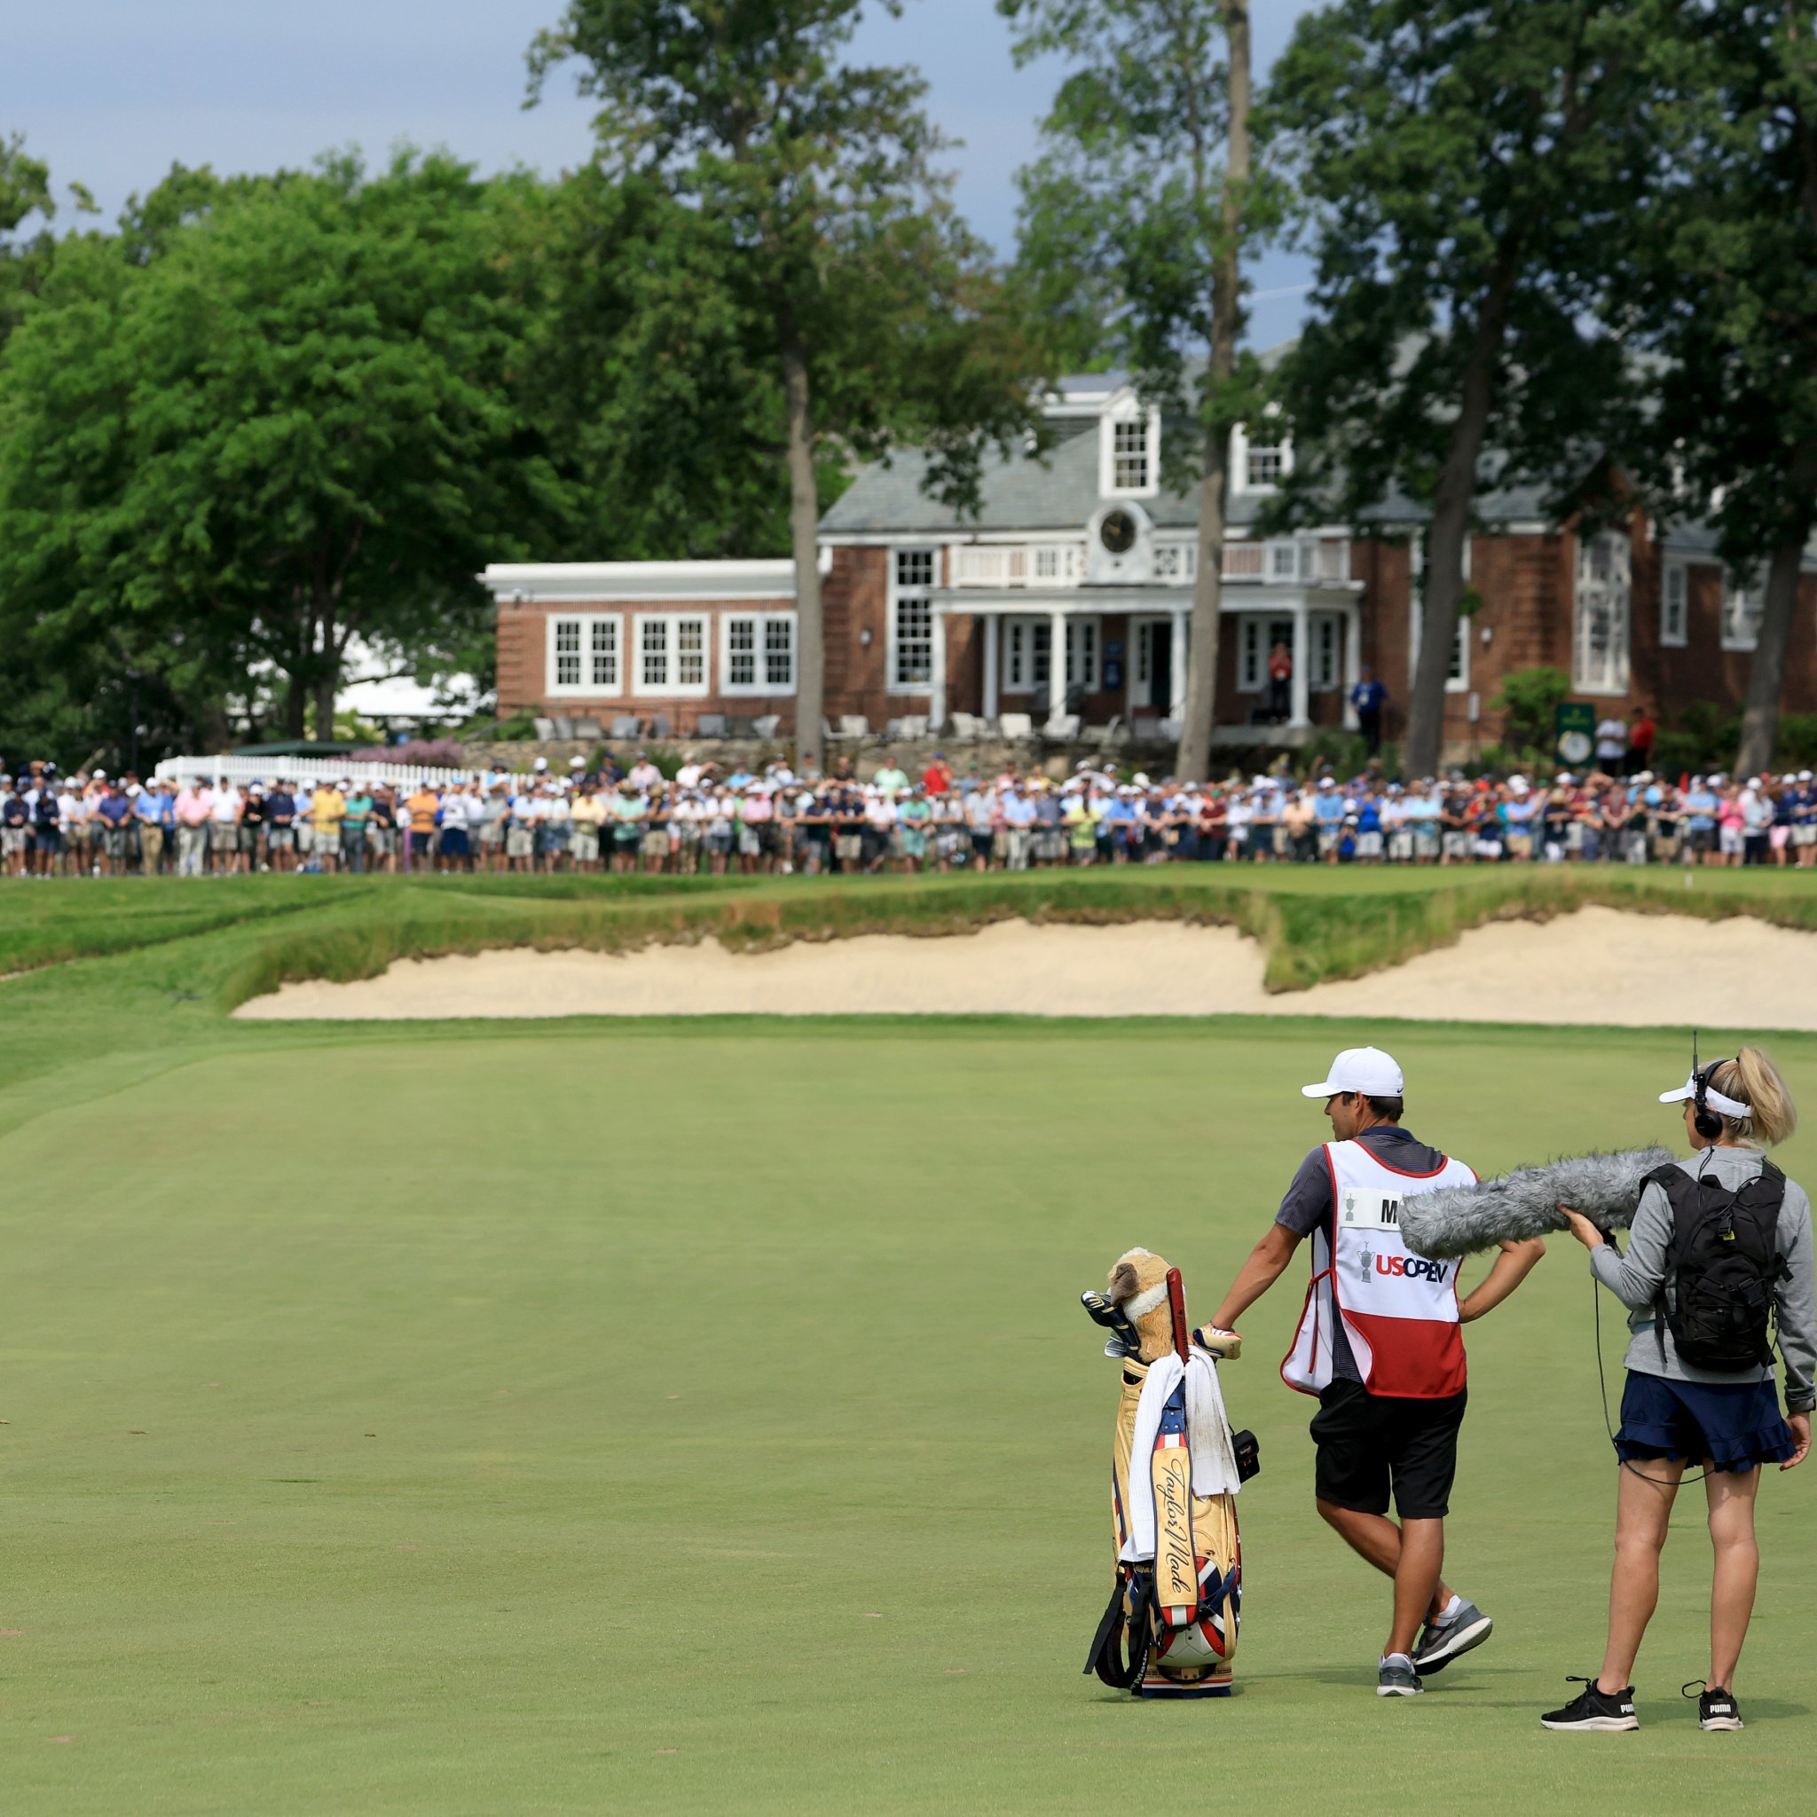
{"label": "dark-leaved tree with leaning trunk, second from the right edge", "polygon": [[1628,371],[1588,323],[1632,253],[1657,145],[1648,0],[1337,0],[1272,80],[1317,256],[1283,372],[1286,507],[1430,511],[1406,769],[1434,774],[1465,549],[1484,482],[1559,514],[1621,420]]}

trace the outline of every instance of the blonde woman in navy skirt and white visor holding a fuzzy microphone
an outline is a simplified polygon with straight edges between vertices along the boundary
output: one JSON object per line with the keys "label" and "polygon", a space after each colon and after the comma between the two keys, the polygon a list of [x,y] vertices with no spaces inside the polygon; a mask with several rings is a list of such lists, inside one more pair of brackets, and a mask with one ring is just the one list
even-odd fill
{"label": "blonde woman in navy skirt and white visor holding a fuzzy microphone", "polygon": [[[1615,1572],[1603,1670],[1563,1710],[1557,1730],[1639,1728],[1633,1661],[1659,1601],[1659,1552],[1688,1463],[1703,1466],[1715,1572],[1710,1584],[1710,1675],[1697,1719],[1741,1728],[1735,1664],[1753,1613],[1761,1554],[1753,1499],[1761,1466],[1792,1470],[1812,1445],[1817,1365],[1817,1283],[1812,1208],[1762,1148],[1797,1128],[1797,1110],[1773,1063],[1753,1047],[1692,1070],[1663,1092],[1683,1107],[1692,1159],[1661,1168],[1641,1194],[1628,1254],[1588,1217],[1561,1205],[1590,1268],[1624,1306],[1628,1381],[1615,1454]],[[1786,1417],[1773,1395],[1768,1308],[1786,1366]]]}

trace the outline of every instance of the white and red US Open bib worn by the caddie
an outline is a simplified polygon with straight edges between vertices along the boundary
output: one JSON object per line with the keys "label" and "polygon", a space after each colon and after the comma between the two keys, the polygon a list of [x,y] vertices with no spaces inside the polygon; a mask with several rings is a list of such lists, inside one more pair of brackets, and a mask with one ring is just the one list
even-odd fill
{"label": "white and red US Open bib worn by the caddie", "polygon": [[1281,1363],[1303,1394],[1328,1386],[1332,1330],[1345,1337],[1370,1394],[1437,1401],[1465,1386],[1457,1261],[1430,1261],[1401,1241],[1401,1205],[1415,1192],[1466,1187],[1475,1172],[1446,1157],[1435,1174],[1403,1174],[1359,1141],[1325,1145],[1332,1221],[1312,1234],[1312,1281]]}

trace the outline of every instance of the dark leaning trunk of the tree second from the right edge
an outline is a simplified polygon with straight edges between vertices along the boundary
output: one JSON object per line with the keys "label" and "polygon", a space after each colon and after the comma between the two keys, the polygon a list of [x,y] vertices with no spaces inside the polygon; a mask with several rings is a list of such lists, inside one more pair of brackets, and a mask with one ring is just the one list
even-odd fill
{"label": "dark leaning trunk of the tree second from the right edge", "polygon": [[1439,747],[1445,738],[1445,678],[1457,643],[1457,605],[1465,594],[1465,543],[1470,536],[1470,507],[1475,501],[1477,462],[1495,402],[1501,343],[1508,327],[1517,273],[1514,242],[1503,245],[1483,298],[1470,362],[1465,367],[1452,445],[1432,491],[1432,532],[1426,547],[1426,603],[1419,620],[1419,663],[1414,669],[1414,694],[1406,707],[1406,750],[1401,769],[1406,776],[1437,776]]}

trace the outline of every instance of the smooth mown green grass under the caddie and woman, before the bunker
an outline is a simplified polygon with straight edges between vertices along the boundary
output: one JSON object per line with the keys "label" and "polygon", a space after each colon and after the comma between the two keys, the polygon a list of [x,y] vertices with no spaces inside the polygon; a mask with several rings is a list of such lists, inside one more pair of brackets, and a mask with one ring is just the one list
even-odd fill
{"label": "smooth mown green grass under the caddie and woman, before the bunker", "polygon": [[[1479,1168],[1672,1134],[1668,1038],[1372,1032]],[[1116,1385],[1076,1296],[1145,1243],[1208,1314],[1361,1034],[265,1028],[71,1068],[0,1137],[9,1808],[1808,1810],[1817,1466],[1762,1488],[1743,1735],[1677,1695],[1697,1490],[1643,1732],[1537,1726],[1597,1661],[1613,1503],[1563,1239],[1470,1332],[1484,1650],[1370,1693],[1386,1584],[1274,1372],[1296,1270],[1225,1377],[1265,1461],[1239,1695],[1079,1675]],[[1772,1045],[1817,1107],[1817,1039]]]}

